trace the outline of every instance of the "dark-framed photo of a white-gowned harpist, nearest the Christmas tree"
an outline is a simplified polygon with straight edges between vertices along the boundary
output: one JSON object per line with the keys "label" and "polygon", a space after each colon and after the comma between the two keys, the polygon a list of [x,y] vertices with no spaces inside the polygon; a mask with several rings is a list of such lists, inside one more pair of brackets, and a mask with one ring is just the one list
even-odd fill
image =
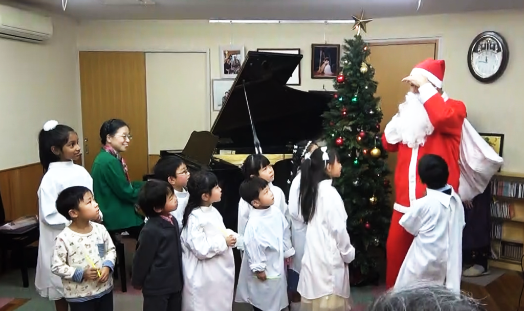
{"label": "dark-framed photo of a white-gowned harpist, nearest the Christmas tree", "polygon": [[340,67],[340,44],[311,44],[311,78],[332,79]]}

